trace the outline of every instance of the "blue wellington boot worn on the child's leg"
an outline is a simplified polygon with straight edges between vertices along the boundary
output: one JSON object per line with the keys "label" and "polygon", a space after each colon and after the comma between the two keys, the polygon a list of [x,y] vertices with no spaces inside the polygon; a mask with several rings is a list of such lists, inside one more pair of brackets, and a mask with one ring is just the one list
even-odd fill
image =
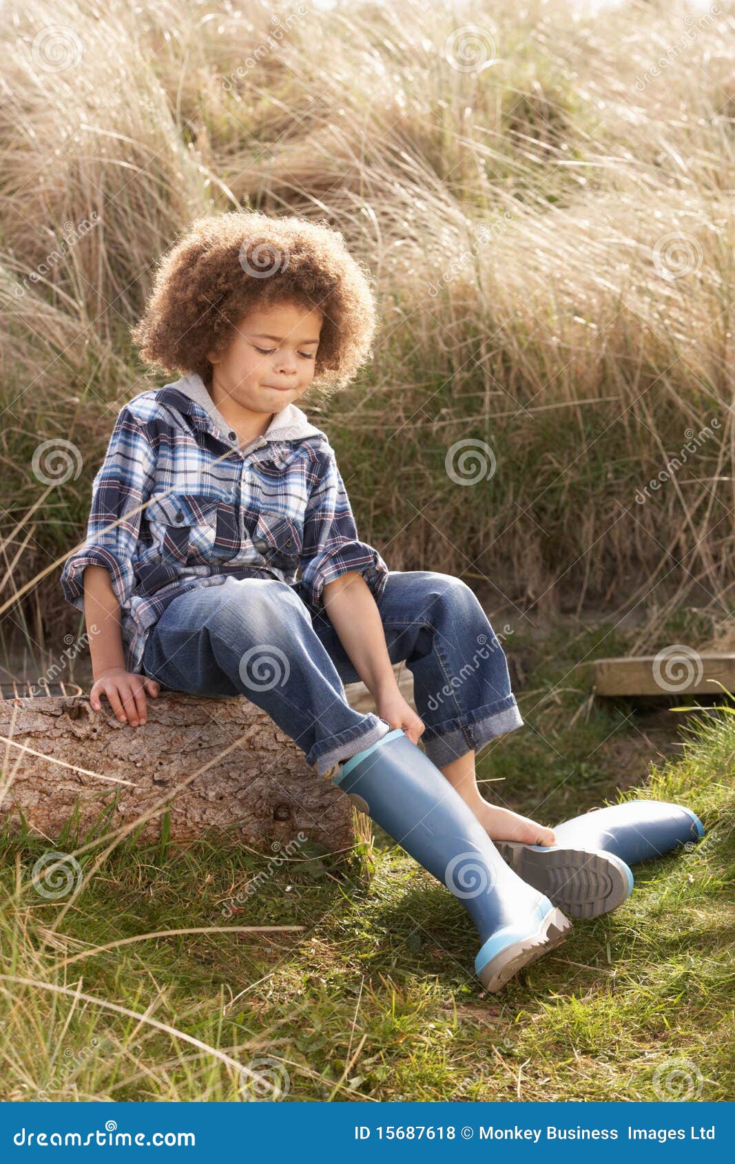
{"label": "blue wellington boot worn on the child's leg", "polygon": [[474,968],[487,991],[500,989],[571,930],[564,914],[503,861],[459,793],[401,728],[331,779],[464,903],[480,934]]}

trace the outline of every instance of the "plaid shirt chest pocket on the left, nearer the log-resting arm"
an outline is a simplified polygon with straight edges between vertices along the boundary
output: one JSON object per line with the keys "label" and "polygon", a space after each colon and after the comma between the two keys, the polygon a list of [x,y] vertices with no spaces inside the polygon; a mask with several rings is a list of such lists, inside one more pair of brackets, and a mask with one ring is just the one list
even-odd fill
{"label": "plaid shirt chest pocket on the left, nearer the log-resting arm", "polygon": [[236,553],[225,506],[207,494],[167,494],[146,506],[146,518],[163,562],[202,566]]}

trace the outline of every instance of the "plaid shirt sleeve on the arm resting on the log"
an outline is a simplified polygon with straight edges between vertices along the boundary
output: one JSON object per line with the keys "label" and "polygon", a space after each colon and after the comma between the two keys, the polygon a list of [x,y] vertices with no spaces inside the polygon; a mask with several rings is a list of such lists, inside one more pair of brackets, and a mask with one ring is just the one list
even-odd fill
{"label": "plaid shirt sleeve on the arm resting on the log", "polygon": [[135,588],[133,558],[144,501],[151,494],[156,454],[141,421],[123,405],[92,482],[86,539],[69,555],[61,574],[68,602],[84,610],[84,570],[104,566],[125,608]]}

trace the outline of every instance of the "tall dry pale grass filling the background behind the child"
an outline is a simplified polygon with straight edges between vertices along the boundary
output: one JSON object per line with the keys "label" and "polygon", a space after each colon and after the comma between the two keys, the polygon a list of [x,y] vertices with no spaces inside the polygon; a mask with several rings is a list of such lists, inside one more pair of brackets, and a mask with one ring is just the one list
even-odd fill
{"label": "tall dry pale grass filling the background behind the child", "polygon": [[[325,218],[374,271],[373,364],[304,407],[393,568],[523,609],[728,605],[733,12],[7,5],[6,599],[49,572],[13,608],[27,633],[76,625],[51,567],[116,410],[162,383],[127,336],[156,257],[241,207]],[[34,452],[58,439],[79,475],[29,518]]]}

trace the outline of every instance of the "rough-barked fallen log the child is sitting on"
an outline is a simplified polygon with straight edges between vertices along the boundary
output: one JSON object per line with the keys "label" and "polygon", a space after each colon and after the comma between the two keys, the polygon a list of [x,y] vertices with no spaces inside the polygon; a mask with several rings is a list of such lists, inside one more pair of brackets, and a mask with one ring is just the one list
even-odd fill
{"label": "rough-barked fallen log the child is sitting on", "polygon": [[84,836],[107,810],[106,831],[140,824],[146,840],[158,839],[164,814],[171,840],[219,828],[259,849],[301,833],[337,852],[355,828],[369,836],[368,818],[246,698],[162,690],[137,728],[103,708],[85,695],[0,700],[0,812],[12,830],[24,817],[52,839],[77,814]]}

